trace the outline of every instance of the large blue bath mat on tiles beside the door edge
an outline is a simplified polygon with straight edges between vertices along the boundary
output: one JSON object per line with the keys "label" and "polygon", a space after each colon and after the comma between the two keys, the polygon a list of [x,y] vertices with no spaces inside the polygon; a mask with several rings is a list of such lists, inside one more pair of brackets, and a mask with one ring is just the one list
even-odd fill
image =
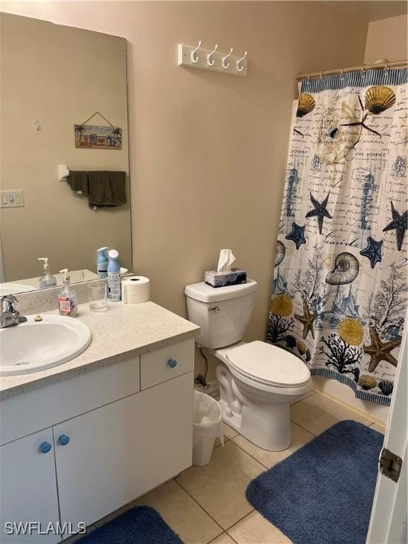
{"label": "large blue bath mat on tiles beside the door edge", "polygon": [[341,421],[252,480],[246,498],[294,544],[365,544],[383,439]]}

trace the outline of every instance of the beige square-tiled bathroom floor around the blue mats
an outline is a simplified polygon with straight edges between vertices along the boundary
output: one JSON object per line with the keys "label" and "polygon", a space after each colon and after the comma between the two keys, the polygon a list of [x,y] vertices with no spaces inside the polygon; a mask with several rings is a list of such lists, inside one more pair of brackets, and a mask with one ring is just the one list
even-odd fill
{"label": "beige square-tiled bathroom floor around the blue mats", "polygon": [[[101,526],[132,506],[145,504],[156,509],[185,544],[290,543],[246,501],[249,482],[343,419],[360,421],[385,432],[385,427],[317,392],[294,404],[290,414],[292,444],[288,450],[262,450],[224,424],[225,446],[216,444],[209,465],[184,470],[174,480],[95,525]],[[73,541],[67,540],[64,544]]]}

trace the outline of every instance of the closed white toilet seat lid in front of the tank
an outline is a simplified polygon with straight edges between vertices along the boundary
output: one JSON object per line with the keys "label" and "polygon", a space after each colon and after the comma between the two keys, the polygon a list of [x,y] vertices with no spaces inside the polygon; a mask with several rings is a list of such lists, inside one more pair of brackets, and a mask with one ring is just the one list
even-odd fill
{"label": "closed white toilet seat lid in front of the tank", "polygon": [[302,387],[310,381],[307,365],[283,348],[254,341],[226,353],[229,364],[240,375],[274,387]]}

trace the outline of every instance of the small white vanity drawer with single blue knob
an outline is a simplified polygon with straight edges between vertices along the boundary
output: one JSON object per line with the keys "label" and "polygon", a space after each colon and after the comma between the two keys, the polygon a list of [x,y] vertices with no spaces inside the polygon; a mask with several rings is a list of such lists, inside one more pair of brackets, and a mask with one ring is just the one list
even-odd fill
{"label": "small white vanity drawer with single blue knob", "polygon": [[193,339],[150,351],[140,356],[140,389],[171,380],[193,369]]}

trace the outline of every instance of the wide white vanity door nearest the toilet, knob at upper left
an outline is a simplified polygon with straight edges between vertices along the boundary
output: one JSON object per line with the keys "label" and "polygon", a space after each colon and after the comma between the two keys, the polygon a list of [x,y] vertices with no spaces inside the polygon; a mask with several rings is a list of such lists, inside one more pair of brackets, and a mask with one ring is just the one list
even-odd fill
{"label": "wide white vanity door nearest the toilet, knob at upper left", "polygon": [[193,373],[54,427],[61,521],[89,525],[191,465]]}

